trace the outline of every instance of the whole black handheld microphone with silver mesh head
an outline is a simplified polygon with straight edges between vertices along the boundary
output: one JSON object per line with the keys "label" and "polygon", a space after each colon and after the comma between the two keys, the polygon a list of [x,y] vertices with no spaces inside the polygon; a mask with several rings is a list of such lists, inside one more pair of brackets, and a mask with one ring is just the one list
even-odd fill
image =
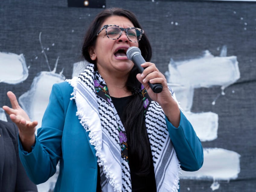
{"label": "whole black handheld microphone with silver mesh head", "polygon": [[[139,69],[139,72],[142,73],[144,68],[140,66],[142,63],[145,63],[145,59],[141,55],[141,51],[138,47],[132,46],[126,51],[126,56],[129,60],[133,61],[134,65]],[[163,90],[163,86],[160,83],[149,83],[150,88],[155,93],[160,93]]]}

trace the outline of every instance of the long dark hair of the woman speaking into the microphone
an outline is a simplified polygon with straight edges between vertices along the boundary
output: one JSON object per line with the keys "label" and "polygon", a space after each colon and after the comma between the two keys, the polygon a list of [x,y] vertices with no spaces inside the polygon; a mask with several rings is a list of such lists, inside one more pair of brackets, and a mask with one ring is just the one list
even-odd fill
{"label": "long dark hair of the woman speaking into the microphone", "polygon": [[[131,11],[121,8],[109,8],[101,11],[89,26],[82,46],[82,54],[85,60],[93,63],[94,65],[96,65],[96,61],[91,60],[89,48],[95,45],[97,32],[100,30],[103,22],[110,16],[126,17],[133,23],[134,27],[142,29],[142,26],[139,24],[136,16]],[[139,41],[139,49],[141,50],[141,54],[144,59],[146,61],[150,61],[152,48],[145,33]],[[138,73],[139,71],[136,67],[133,67],[130,71],[126,82],[126,87],[130,91],[140,88],[140,82],[136,78],[136,74]],[[123,125],[126,130],[128,143],[129,164],[135,167],[136,174],[146,175],[149,173],[152,158],[145,125],[142,96],[140,94],[133,95],[132,100],[127,104],[126,109],[124,109],[123,115]]]}

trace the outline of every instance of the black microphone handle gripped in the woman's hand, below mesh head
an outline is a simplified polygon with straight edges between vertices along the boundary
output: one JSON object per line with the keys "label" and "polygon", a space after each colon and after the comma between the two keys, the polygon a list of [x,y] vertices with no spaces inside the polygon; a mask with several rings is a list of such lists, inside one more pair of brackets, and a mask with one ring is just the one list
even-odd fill
{"label": "black microphone handle gripped in the woman's hand, below mesh head", "polygon": [[[136,65],[136,67],[139,69],[139,72],[142,73],[144,71],[144,68],[142,66],[140,66],[142,63],[145,63],[145,59],[141,56],[141,54],[134,54],[132,56],[132,61],[134,63],[134,65]],[[163,86],[160,83],[149,83],[150,88],[153,90],[154,93],[160,93],[163,90]]]}

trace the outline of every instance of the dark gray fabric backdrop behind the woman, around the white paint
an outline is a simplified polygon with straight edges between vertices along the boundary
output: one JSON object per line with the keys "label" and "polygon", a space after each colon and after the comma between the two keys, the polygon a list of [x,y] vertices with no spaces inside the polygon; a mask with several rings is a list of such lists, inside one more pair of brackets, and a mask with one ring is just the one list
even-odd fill
{"label": "dark gray fabric backdrop behind the woman, around the white paint", "polygon": [[[237,56],[238,81],[226,88],[226,95],[215,105],[211,103],[220,87],[196,89],[191,111],[212,111],[219,116],[218,138],[202,142],[204,148],[218,147],[241,155],[238,178],[219,181],[216,191],[256,191],[256,3],[106,0],[106,7],[126,8],[137,15],[152,43],[152,62],[163,73],[168,71],[171,58],[195,58],[204,50],[219,55],[218,47],[223,45],[227,46],[227,56]],[[0,106],[10,105],[7,91],[19,97],[38,72],[49,71],[41,52],[40,32],[43,46],[50,47],[46,54],[51,68],[59,56],[57,71],[64,68],[63,75],[71,78],[73,63],[82,60],[83,35],[101,10],[68,7],[64,0],[1,1],[0,52],[23,53],[30,69],[22,83],[0,83]],[[181,191],[212,191],[212,183],[212,179],[182,179]]]}

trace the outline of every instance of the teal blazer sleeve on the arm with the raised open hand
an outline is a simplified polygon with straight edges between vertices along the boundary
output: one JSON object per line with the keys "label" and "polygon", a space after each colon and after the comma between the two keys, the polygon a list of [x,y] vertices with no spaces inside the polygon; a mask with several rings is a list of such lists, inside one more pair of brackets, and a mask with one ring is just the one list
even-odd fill
{"label": "teal blazer sleeve on the arm with the raised open hand", "polygon": [[54,84],[49,104],[43,115],[42,127],[37,130],[36,142],[32,146],[32,151],[30,153],[24,151],[19,140],[21,162],[29,178],[35,184],[44,183],[56,172],[56,165],[62,155],[64,108],[62,90],[59,84]]}

